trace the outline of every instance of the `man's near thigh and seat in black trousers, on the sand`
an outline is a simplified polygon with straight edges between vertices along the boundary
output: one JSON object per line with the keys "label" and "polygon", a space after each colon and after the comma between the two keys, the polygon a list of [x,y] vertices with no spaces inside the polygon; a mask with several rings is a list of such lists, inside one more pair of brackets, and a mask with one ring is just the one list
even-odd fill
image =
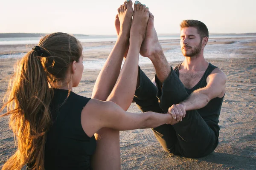
{"label": "man's near thigh and seat in black trousers, on the sand", "polygon": [[185,118],[172,126],[177,133],[182,156],[207,156],[218,145],[218,137],[197,111],[187,111]]}

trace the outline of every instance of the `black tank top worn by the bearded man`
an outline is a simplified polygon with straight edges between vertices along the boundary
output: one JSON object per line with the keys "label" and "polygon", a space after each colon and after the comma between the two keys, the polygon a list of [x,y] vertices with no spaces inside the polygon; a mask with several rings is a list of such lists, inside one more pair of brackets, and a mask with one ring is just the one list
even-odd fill
{"label": "black tank top worn by the bearded man", "polygon": [[[174,68],[174,71],[175,71],[175,73],[177,74],[178,77],[179,77],[180,65],[181,65],[181,63]],[[204,88],[207,85],[207,81],[206,81],[207,77],[209,76],[209,74],[211,74],[211,72],[215,68],[218,68],[218,67],[209,63],[208,68],[204,72],[204,75],[200,79],[198,84],[196,84],[191,89],[186,88],[187,93],[190,95],[193,91],[197,90],[198,88]],[[209,103],[204,108],[201,108],[201,109],[197,110],[198,113],[204,119],[204,121],[207,123],[207,125],[209,125],[209,127],[215,132],[215,135],[217,137],[219,136],[219,130],[220,130],[220,127],[218,126],[218,122],[219,122],[218,118],[219,118],[220,113],[221,113],[221,105],[222,105],[222,102],[223,102],[223,98],[224,98],[224,96],[221,97],[221,98],[216,97],[216,98],[210,100]]]}

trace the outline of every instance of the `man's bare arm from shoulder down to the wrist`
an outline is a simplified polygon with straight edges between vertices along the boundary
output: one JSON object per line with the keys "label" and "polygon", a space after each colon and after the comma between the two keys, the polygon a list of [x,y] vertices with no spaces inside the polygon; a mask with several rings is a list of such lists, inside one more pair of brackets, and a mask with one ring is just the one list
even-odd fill
{"label": "man's bare arm from shoulder down to the wrist", "polygon": [[180,104],[185,111],[203,108],[211,99],[223,97],[226,91],[227,76],[219,68],[215,68],[207,77],[207,86],[193,91],[193,93]]}

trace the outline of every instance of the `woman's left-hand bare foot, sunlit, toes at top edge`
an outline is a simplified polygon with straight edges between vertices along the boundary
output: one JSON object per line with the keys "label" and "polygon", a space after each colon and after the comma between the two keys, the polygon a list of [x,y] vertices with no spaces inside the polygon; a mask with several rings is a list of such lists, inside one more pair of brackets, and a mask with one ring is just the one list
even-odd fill
{"label": "woman's left-hand bare foot, sunlit, toes at top edge", "polygon": [[117,35],[124,34],[130,36],[131,19],[133,15],[132,1],[124,2],[118,9],[116,15],[115,26]]}

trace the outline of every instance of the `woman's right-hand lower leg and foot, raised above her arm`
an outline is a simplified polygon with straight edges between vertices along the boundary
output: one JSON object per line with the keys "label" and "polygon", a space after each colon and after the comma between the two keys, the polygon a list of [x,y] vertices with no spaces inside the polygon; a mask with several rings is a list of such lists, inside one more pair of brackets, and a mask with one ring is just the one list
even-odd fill
{"label": "woman's right-hand lower leg and foot, raised above her arm", "polygon": [[135,4],[133,17],[128,54],[116,85],[108,97],[108,100],[116,102],[125,110],[129,108],[136,90],[139,51],[148,23],[148,8]]}

